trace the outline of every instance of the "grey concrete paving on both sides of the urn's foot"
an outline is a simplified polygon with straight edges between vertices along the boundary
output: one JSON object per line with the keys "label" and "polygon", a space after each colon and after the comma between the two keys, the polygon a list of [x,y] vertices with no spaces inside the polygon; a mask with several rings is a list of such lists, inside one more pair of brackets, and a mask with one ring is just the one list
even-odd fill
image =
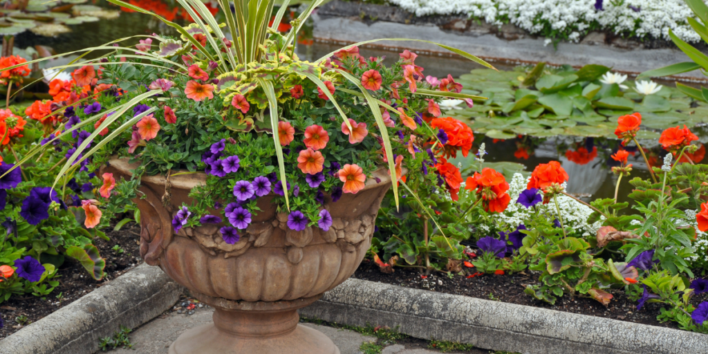
{"label": "grey concrete paving on both sides of the urn's foot", "polygon": [[[177,339],[183,332],[194,326],[207,324],[212,321],[212,313],[214,309],[205,307],[194,310],[194,314],[177,314],[177,312],[168,312],[156,317],[147,324],[144,324],[130,333],[130,342],[133,343],[132,349],[116,349],[111,350],[111,354],[165,354],[170,344]],[[365,342],[375,342],[376,338],[371,336],[363,336],[355,331],[345,329],[336,329],[328,326],[319,326],[316,324],[304,324],[321,331],[326,336],[332,339],[336,346],[341,350],[341,354],[360,354],[359,347]],[[97,352],[103,353],[103,352]],[[428,350],[421,348],[420,344],[395,344],[387,346],[382,350],[382,354],[433,354],[440,353],[439,351]],[[466,353],[489,353],[488,351],[479,350]]]}

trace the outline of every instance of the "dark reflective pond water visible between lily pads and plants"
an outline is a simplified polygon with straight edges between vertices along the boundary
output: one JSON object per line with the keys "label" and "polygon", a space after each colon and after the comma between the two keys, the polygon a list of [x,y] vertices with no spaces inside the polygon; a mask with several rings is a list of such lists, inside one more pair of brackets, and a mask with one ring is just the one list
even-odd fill
{"label": "dark reflective pond water visible between lily pads and plants", "polygon": [[[117,6],[99,2],[97,5],[106,8],[116,9]],[[105,42],[118,38],[127,38],[132,35],[149,35],[151,33],[163,33],[175,35],[176,31],[164,25],[160,21],[141,13],[121,12],[118,19],[108,21],[102,20],[93,23],[83,23],[81,25],[71,25],[72,33],[64,33],[54,38],[42,37],[33,33],[25,32],[16,37],[16,47],[25,48],[35,45],[45,45],[52,47],[57,53],[80,50],[84,47],[101,45]],[[131,40],[135,43],[137,40]],[[303,59],[319,59],[341,46],[323,45],[298,45],[297,52]],[[387,62],[395,62],[398,59],[396,52],[383,50],[362,49],[365,56],[386,56]],[[444,77],[451,74],[456,78],[468,74],[472,69],[479,69],[481,66],[465,59],[455,59],[449,57],[426,57],[419,56],[416,64],[425,68],[425,74]],[[494,63],[500,70],[511,70],[513,67],[504,64]],[[708,143],[708,133],[704,128],[694,129],[695,133],[701,137],[702,142]],[[564,169],[569,173],[568,183],[569,193],[573,193],[584,200],[595,198],[612,198],[615,195],[615,184],[617,176],[612,174],[612,166],[617,166],[615,161],[610,159],[610,155],[617,151],[617,139],[607,138],[583,138],[583,137],[528,137],[518,136],[512,139],[491,139],[482,134],[475,136],[473,151],[483,143],[486,146],[487,156],[486,166],[494,167],[503,171],[508,180],[514,172],[530,173],[537,164],[548,161],[561,161]],[[656,139],[646,139],[642,141],[644,147],[650,148],[649,156],[653,161],[661,164],[663,152],[656,146]],[[704,149],[702,149],[704,153]],[[697,153],[697,155],[699,155]],[[702,159],[696,156],[695,159]],[[630,156],[630,163],[634,165],[632,178],[639,176],[649,178],[644,160],[641,154],[635,153]],[[462,166],[462,171],[467,175],[472,173],[473,157],[464,158],[459,156],[453,161]],[[464,174],[463,174],[464,176]],[[630,178],[624,178],[620,184],[620,200],[627,198],[627,191],[632,189],[629,183]],[[592,198],[590,198],[592,197]],[[629,201],[627,199],[627,201]]]}

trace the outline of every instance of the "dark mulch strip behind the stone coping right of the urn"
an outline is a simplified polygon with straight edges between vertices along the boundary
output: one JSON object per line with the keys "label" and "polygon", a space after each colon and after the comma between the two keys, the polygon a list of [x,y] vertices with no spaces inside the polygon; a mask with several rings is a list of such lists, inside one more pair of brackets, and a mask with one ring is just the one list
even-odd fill
{"label": "dark mulch strip behind the stone coping right of the urn", "polygon": [[[481,275],[474,278],[466,278],[462,275],[449,278],[446,273],[433,273],[423,279],[418,270],[410,268],[396,268],[393,274],[381,273],[377,265],[365,259],[353,278],[678,329],[674,322],[661,323],[656,320],[661,304],[646,304],[637,311],[636,302],[630,300],[621,290],[610,290],[614,298],[607,307],[593,299],[584,297],[571,299],[568,295],[556,301],[555,305],[533,299],[524,293],[526,285],[539,284],[538,275],[532,273],[537,272],[526,270],[525,273],[513,275]],[[702,301],[708,301],[708,294],[694,296],[691,300],[694,305]]]}

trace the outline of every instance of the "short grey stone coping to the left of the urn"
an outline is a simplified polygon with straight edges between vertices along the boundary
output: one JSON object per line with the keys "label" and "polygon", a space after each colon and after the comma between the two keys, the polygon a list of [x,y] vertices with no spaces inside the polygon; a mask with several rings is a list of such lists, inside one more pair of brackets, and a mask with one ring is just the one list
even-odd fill
{"label": "short grey stone coping to the left of the urn", "polygon": [[183,288],[142,263],[0,341],[0,354],[93,354],[100,338],[134,329],[177,302]]}

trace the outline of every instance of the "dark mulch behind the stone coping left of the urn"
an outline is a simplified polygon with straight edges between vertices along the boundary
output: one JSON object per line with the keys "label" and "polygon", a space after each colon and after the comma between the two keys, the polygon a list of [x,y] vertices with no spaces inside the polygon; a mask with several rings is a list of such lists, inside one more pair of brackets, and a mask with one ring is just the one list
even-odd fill
{"label": "dark mulch behind the stone coping left of the urn", "polygon": [[[103,280],[93,280],[91,275],[81,266],[81,263],[67,257],[64,264],[59,267],[59,278],[55,278],[59,281],[59,286],[50,295],[44,298],[31,294],[13,296],[0,304],[0,315],[5,321],[4,328],[0,329],[0,339],[22,328],[16,322],[18,316],[26,316],[30,322],[38,321],[142,263],[138,244],[140,239],[139,225],[129,223],[125,224],[120,231],[115,232],[111,227],[103,232],[110,237],[110,241],[98,238],[93,240],[93,243],[101,251],[101,256],[105,258]],[[115,245],[120,246],[123,252],[115,253],[113,251]],[[61,297],[57,297],[59,294]]]}

